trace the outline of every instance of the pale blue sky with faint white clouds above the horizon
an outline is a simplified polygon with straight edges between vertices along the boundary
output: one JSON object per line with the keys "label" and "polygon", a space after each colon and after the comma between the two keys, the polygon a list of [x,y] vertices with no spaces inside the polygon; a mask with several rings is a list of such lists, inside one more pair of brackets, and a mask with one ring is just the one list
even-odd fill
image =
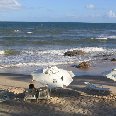
{"label": "pale blue sky with faint white clouds above the horizon", "polygon": [[116,23],[116,0],[0,0],[0,21]]}

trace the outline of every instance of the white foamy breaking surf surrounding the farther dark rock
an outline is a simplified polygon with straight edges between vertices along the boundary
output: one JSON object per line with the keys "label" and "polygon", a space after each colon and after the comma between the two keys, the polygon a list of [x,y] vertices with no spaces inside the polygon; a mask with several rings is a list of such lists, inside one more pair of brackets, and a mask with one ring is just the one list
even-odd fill
{"label": "white foamy breaking surf surrounding the farther dark rock", "polygon": [[[68,57],[64,56],[66,51],[82,50],[87,54],[84,56]],[[106,49],[98,47],[70,48],[61,50],[21,50],[20,55],[4,55],[4,50],[0,51],[0,68],[9,67],[41,67],[48,65],[79,63],[81,61],[95,60],[96,54],[115,54],[116,49]]]}

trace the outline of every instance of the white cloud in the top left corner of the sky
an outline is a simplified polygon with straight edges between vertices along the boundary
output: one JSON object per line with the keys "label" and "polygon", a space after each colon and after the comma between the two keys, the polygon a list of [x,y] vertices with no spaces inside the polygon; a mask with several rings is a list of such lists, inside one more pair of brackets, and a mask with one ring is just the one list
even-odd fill
{"label": "white cloud in the top left corner of the sky", "polygon": [[17,0],[0,0],[0,10],[19,9],[21,4]]}

